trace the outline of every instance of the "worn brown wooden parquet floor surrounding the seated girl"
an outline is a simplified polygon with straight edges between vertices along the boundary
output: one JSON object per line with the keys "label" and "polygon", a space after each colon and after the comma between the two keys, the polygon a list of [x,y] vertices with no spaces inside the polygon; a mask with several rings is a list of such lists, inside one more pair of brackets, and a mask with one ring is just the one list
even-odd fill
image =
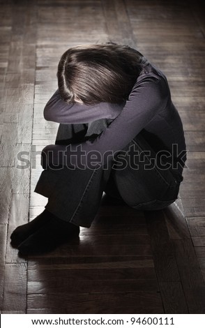
{"label": "worn brown wooden parquet floor surrounding the seated girl", "polygon": [[[1,313],[205,313],[202,2],[1,1]],[[107,40],[137,47],[167,75],[189,150],[181,198],[149,214],[104,201],[79,241],[25,260],[10,233],[46,202],[33,188],[57,128],[43,119],[56,66],[68,47]]]}

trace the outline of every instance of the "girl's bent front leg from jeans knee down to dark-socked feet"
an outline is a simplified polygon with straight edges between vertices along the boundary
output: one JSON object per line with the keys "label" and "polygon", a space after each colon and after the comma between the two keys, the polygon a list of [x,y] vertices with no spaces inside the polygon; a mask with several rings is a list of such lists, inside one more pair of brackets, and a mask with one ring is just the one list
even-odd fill
{"label": "girl's bent front leg from jeans knee down to dark-socked feet", "polygon": [[[77,142],[85,134],[85,124],[61,125],[56,143]],[[102,168],[44,170],[35,191],[48,197],[45,211],[13,232],[13,246],[24,255],[51,251],[79,234],[79,225],[89,228],[100,205],[106,175]]]}

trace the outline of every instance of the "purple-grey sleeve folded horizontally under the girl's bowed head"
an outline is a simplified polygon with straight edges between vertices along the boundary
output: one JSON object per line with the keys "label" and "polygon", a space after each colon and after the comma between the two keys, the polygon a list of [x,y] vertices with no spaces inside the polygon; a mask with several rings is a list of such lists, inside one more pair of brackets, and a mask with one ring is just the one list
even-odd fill
{"label": "purple-grey sleeve folded horizontally under the girl's bowed head", "polygon": [[99,103],[98,105],[84,105],[66,103],[61,99],[59,89],[47,102],[44,117],[47,121],[60,124],[91,123],[98,119],[115,119],[125,104]]}

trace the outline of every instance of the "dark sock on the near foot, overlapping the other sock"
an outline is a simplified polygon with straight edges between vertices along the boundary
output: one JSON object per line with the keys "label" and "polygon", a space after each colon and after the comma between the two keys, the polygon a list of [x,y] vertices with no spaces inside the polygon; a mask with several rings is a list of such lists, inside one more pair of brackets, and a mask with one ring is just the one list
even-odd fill
{"label": "dark sock on the near foot, overlapping the other sock", "polygon": [[50,214],[50,220],[31,234],[19,246],[20,255],[35,255],[53,251],[79,234],[79,227]]}

